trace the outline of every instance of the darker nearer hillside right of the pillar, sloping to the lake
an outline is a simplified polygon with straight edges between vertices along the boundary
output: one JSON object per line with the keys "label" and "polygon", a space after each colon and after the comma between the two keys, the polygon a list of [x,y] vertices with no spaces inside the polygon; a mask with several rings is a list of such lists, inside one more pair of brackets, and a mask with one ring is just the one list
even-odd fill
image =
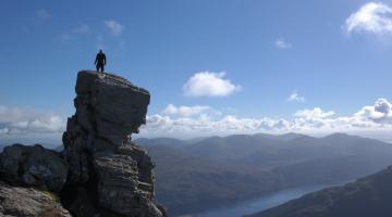
{"label": "darker nearer hillside right of the pillar, sloping to the lake", "polygon": [[282,184],[275,173],[237,169],[164,145],[147,150],[157,164],[157,200],[169,207],[172,215],[196,213],[257,196],[278,190]]}

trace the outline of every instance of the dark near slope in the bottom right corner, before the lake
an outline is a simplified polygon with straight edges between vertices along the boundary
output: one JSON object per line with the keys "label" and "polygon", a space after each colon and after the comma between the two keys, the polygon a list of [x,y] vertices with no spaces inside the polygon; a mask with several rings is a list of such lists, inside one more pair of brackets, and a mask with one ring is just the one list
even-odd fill
{"label": "dark near slope in the bottom right corner, before the lake", "polygon": [[328,188],[248,217],[392,216],[392,167],[344,187]]}

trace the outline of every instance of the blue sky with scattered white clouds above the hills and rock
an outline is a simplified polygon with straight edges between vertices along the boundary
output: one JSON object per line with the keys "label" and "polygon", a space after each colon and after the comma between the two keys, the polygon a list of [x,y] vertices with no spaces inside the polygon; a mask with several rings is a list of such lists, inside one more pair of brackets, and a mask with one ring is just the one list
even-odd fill
{"label": "blue sky with scattered white clouds above the hills and rock", "polygon": [[0,2],[0,144],[61,142],[77,72],[148,89],[139,137],[392,141],[392,1]]}

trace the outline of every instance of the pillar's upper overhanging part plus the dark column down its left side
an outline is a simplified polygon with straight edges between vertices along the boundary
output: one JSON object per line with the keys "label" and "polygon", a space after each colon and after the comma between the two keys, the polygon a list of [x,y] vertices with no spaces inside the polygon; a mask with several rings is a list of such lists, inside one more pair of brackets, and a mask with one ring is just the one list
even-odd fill
{"label": "pillar's upper overhanging part plus the dark column down its left side", "polygon": [[120,76],[93,71],[78,73],[75,90],[76,113],[69,118],[63,143],[71,180],[86,182],[91,155],[113,153],[146,123],[150,95]]}

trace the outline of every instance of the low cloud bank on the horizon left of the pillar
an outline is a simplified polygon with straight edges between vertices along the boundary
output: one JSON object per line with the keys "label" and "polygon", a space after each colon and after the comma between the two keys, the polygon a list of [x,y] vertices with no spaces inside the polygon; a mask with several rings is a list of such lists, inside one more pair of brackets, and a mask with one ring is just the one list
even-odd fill
{"label": "low cloud bank on the horizon left of the pillar", "polygon": [[62,132],[65,120],[52,113],[0,106],[0,136]]}

